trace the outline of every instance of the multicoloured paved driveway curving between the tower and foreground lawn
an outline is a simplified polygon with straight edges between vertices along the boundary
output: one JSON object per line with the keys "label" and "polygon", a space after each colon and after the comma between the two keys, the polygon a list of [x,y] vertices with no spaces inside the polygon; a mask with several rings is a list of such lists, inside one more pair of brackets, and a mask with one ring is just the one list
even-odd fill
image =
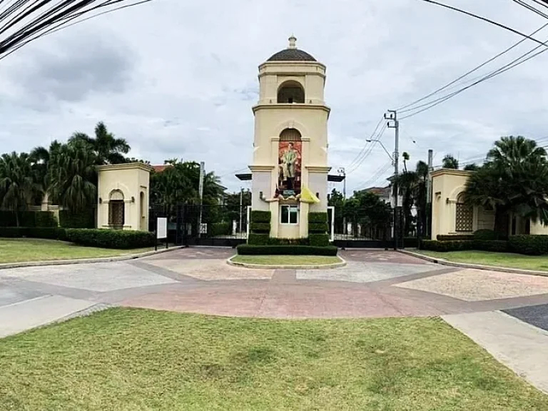
{"label": "multicoloured paved driveway curving between the tower and foreground lawn", "polygon": [[343,251],[347,266],[330,270],[249,270],[227,265],[232,254],[225,248],[187,248],[125,262],[0,270],[0,336],[108,305],[350,318],[548,303],[548,278],[444,268],[392,251]]}

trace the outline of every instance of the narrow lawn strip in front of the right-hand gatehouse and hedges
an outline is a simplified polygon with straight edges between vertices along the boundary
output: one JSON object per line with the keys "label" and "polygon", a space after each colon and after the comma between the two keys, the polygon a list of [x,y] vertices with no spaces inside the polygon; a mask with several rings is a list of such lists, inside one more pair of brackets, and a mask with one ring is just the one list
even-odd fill
{"label": "narrow lawn strip in front of the right-hand gatehouse and hedges", "polygon": [[547,255],[522,255],[512,253],[491,253],[489,251],[438,251],[420,250],[418,253],[455,263],[497,265],[499,267],[522,268],[523,270],[548,271]]}

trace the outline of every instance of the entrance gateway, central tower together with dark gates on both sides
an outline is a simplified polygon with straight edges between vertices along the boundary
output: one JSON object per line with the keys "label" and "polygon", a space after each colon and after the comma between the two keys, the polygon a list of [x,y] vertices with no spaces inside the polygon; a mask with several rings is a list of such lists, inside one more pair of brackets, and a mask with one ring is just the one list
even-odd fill
{"label": "entrance gateway, central tower together with dark gates on both sides", "polygon": [[385,246],[387,230],[379,235],[378,230],[367,230],[361,220],[350,225],[344,220],[342,227],[343,210],[328,210],[328,181],[340,182],[345,176],[328,175],[326,67],[298,49],[296,41],[291,36],[287,49],[259,66],[251,173],[236,175],[251,181],[250,208],[247,204],[234,209],[228,205],[179,205],[172,223],[176,243],[245,243],[252,225],[250,213],[258,210],[270,212],[272,238],[308,238],[309,213],[328,213],[330,240],[336,245]]}

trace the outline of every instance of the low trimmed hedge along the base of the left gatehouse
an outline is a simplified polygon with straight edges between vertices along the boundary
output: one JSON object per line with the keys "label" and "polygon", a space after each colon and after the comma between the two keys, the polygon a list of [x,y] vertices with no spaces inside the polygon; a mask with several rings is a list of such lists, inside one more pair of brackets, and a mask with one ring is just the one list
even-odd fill
{"label": "low trimmed hedge along the base of the left gatehouse", "polygon": [[66,238],[72,243],[98,248],[145,248],[156,242],[154,233],[148,231],[97,230],[67,228]]}

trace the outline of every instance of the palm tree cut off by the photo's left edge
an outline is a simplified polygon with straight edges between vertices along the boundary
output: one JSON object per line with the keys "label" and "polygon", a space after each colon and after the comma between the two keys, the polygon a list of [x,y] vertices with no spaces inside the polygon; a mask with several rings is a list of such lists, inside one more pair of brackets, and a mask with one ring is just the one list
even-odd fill
{"label": "palm tree cut off by the photo's left edge", "polygon": [[19,227],[19,212],[26,210],[34,195],[35,184],[29,154],[3,154],[0,157],[0,208],[15,213]]}

